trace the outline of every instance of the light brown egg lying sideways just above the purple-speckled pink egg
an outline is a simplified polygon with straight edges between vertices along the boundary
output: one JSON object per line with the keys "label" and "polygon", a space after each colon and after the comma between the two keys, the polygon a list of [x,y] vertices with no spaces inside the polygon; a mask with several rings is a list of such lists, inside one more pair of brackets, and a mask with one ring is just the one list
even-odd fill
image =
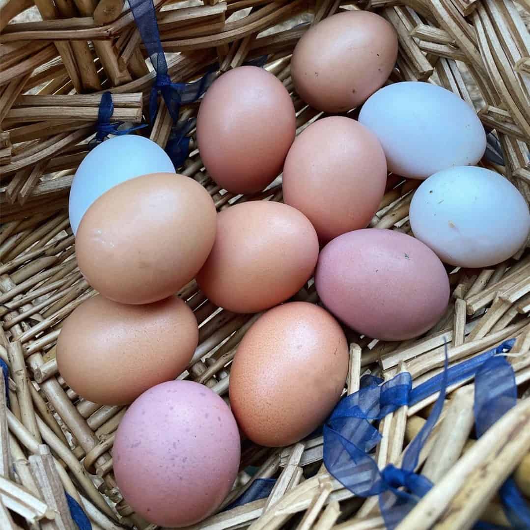
{"label": "light brown egg lying sideways just above the purple-speckled pink egg", "polygon": [[83,398],[121,405],[181,374],[198,338],[195,315],[176,296],[125,305],[98,295],[64,322],[57,365],[68,386]]}

